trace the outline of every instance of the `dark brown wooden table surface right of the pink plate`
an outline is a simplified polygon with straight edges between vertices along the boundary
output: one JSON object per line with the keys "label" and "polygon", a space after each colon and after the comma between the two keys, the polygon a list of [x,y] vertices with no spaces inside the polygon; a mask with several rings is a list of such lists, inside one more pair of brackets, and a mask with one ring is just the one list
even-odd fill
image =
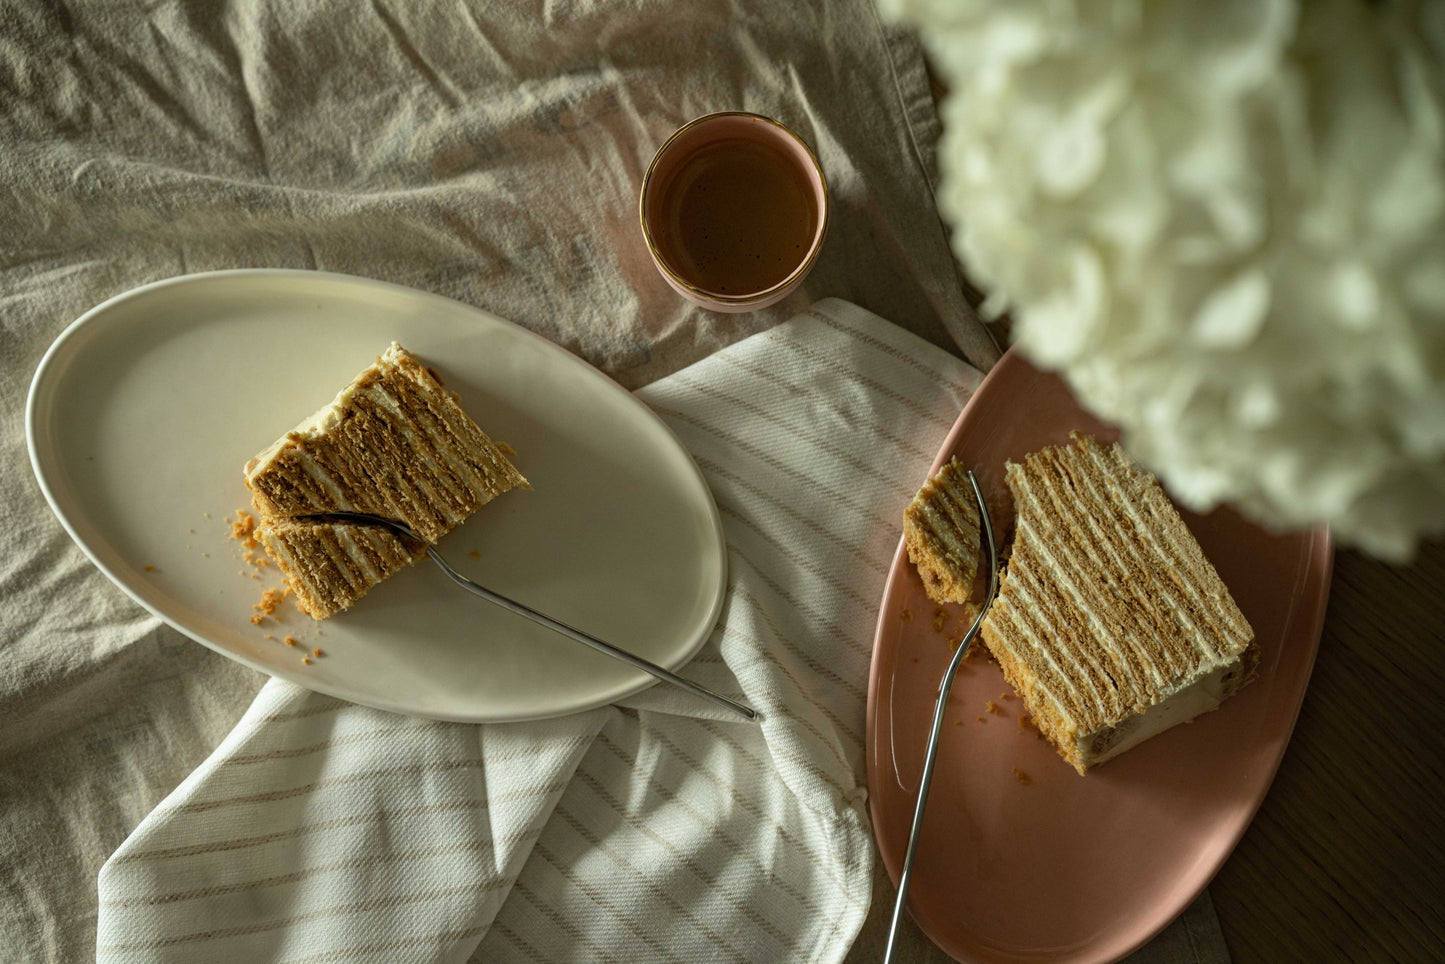
{"label": "dark brown wooden table surface right of the pink plate", "polygon": [[1445,961],[1445,542],[1335,555],[1319,656],[1209,895],[1238,964]]}

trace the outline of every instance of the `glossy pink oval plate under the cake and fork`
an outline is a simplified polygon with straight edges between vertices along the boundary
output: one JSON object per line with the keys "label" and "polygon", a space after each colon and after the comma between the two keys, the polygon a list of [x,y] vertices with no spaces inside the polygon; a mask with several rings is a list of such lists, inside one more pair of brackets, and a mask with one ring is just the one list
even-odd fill
{"label": "glossy pink oval plate under the cake and fork", "polygon": [[[1064,382],[1010,351],[968,402],[935,462],[978,475],[1004,539],[1004,460],[1118,432]],[[918,480],[919,484],[923,480]],[[1325,529],[1270,533],[1230,509],[1183,519],[1263,647],[1259,679],[1195,723],[1079,776],[1032,728],[980,643],[948,697],[909,892],[923,932],[959,961],[1113,961],[1208,885],[1285,754],[1319,645],[1334,549]],[[965,623],[938,606],[899,545],[868,679],[868,806],[897,882],[933,700]],[[990,702],[996,711],[990,711]]]}

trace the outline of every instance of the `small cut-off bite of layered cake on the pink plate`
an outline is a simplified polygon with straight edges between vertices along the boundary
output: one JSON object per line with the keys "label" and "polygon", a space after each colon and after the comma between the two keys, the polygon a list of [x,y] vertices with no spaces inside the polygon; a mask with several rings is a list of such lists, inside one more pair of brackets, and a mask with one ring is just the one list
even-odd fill
{"label": "small cut-off bite of layered cake on the pink plate", "polygon": [[907,558],[935,603],[967,603],[978,575],[978,506],[957,458],[923,483],[903,510]]}

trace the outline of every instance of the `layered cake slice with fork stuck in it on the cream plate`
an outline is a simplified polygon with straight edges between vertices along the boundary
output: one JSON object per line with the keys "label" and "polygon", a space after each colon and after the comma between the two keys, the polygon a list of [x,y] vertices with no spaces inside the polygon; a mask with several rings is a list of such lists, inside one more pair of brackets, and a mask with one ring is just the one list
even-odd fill
{"label": "layered cake slice with fork stuck in it on the cream plate", "polygon": [[[337,397],[246,464],[254,536],[314,619],[350,608],[496,496],[527,480],[434,371],[393,343]],[[390,529],[296,519],[364,512]]]}

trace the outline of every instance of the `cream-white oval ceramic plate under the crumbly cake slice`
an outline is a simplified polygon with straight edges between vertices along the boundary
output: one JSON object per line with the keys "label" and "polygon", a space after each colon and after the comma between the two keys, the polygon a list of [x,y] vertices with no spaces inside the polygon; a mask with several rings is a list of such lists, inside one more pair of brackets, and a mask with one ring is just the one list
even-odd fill
{"label": "cream-white oval ceramic plate under the crumbly cake slice", "polygon": [[[51,507],[131,598],[249,666],[354,702],[468,723],[553,717],[655,681],[477,600],[431,564],[316,623],[250,617],[275,569],[230,538],[241,467],[399,341],[516,449],[439,549],[478,582],[676,669],[711,634],[717,506],[666,425],[556,344],[447,298],[290,270],[175,277],[91,309],[36,370],[26,434]],[[259,577],[259,578],[253,578]],[[56,600],[64,606],[64,600]],[[288,646],[290,636],[298,646]],[[302,653],[321,649],[303,663]]]}

